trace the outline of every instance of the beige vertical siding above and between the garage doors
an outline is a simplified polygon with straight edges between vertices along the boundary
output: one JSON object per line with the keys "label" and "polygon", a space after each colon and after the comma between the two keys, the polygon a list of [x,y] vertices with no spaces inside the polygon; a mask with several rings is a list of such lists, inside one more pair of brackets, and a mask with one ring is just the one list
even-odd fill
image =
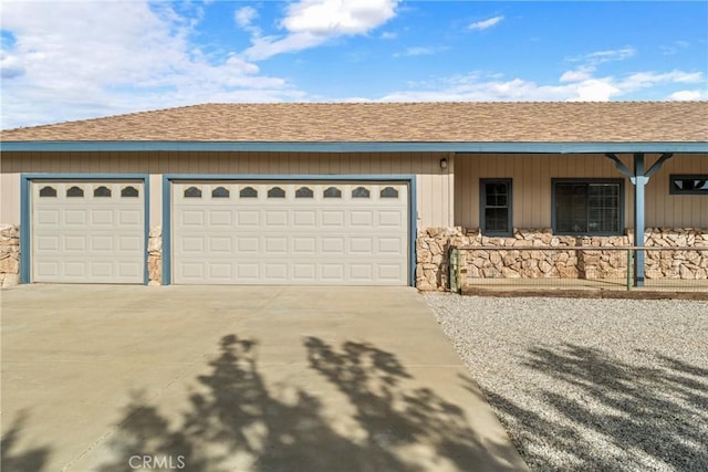
{"label": "beige vertical siding above and between the garage doors", "polygon": [[[447,158],[448,169],[440,169]],[[20,221],[20,174],[148,174],[150,227],[162,223],[162,176],[184,175],[415,175],[418,228],[452,225],[452,168],[448,153],[3,153],[0,214]]]}

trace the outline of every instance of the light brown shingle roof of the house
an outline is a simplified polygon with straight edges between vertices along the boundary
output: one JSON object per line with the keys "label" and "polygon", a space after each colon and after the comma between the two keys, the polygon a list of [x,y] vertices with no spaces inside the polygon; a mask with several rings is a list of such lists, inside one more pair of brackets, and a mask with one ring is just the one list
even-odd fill
{"label": "light brown shingle roof of the house", "polygon": [[705,143],[708,102],[205,104],[11,129],[1,140]]}

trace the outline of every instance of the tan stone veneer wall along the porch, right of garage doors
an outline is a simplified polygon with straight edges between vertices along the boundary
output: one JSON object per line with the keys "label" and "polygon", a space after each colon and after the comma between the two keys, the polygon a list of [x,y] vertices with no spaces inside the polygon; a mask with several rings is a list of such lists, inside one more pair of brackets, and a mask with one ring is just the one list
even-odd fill
{"label": "tan stone veneer wall along the porch, right of garage doors", "polygon": [[[579,247],[626,247],[634,243],[632,230],[621,237],[554,235],[551,229],[514,230],[511,238],[488,238],[478,229],[427,228],[416,242],[416,286],[445,290],[449,286],[449,248],[499,247],[499,250],[461,251],[467,279],[623,279],[626,252],[577,250]],[[647,251],[647,279],[708,279],[708,230],[649,228],[646,247],[696,247],[695,251]],[[546,250],[543,248],[569,248]]]}

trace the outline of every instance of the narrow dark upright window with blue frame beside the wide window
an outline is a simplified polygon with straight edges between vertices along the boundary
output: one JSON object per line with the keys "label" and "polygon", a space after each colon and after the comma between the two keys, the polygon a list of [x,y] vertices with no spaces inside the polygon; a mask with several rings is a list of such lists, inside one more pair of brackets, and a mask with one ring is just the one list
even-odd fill
{"label": "narrow dark upright window with blue frame beside the wide window", "polygon": [[480,179],[480,229],[485,235],[511,235],[511,179]]}

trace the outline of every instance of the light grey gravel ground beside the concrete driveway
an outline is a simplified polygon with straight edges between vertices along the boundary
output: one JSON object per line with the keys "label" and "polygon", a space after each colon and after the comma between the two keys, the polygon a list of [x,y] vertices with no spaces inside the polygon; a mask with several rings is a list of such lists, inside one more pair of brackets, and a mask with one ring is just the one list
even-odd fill
{"label": "light grey gravel ground beside the concrete driveway", "polygon": [[708,471],[708,303],[426,294],[534,471]]}

